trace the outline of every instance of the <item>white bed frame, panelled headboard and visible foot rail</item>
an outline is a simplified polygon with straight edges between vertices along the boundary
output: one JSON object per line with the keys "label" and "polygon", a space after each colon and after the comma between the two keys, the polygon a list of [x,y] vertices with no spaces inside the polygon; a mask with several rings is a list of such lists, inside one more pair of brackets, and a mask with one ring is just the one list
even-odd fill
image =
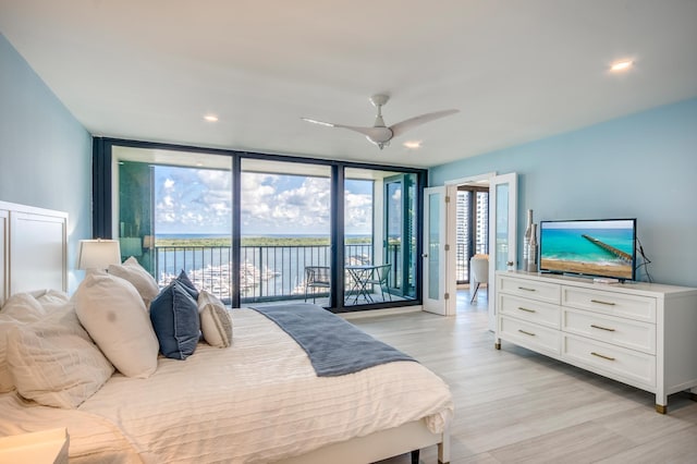
{"label": "white bed frame, panelled headboard and visible foot rail", "polygon": [[[68,291],[68,213],[0,202],[0,306],[19,292]],[[284,464],[370,463],[438,445],[438,461],[450,462],[450,435],[432,434],[424,420],[329,444]]]}

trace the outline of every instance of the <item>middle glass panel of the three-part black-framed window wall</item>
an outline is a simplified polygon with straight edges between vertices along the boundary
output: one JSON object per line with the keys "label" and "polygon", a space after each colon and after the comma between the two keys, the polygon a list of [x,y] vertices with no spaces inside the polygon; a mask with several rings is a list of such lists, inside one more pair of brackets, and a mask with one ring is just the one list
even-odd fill
{"label": "middle glass panel of the three-part black-framed window wall", "polygon": [[330,181],[328,166],[242,160],[243,306],[301,296],[329,306]]}

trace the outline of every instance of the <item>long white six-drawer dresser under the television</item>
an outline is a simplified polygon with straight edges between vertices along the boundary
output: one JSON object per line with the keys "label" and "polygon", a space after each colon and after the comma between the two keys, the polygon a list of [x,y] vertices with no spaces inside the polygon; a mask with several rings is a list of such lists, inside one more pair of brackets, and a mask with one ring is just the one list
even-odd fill
{"label": "long white six-drawer dresser under the television", "polygon": [[501,340],[656,393],[697,393],[697,289],[497,273]]}

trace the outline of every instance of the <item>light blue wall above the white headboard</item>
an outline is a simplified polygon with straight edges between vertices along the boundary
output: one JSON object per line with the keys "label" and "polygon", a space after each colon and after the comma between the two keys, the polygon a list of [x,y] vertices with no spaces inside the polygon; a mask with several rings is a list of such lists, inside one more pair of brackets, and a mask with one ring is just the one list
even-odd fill
{"label": "light blue wall above the white headboard", "polygon": [[70,290],[91,237],[91,135],[0,34],[0,200],[68,211]]}

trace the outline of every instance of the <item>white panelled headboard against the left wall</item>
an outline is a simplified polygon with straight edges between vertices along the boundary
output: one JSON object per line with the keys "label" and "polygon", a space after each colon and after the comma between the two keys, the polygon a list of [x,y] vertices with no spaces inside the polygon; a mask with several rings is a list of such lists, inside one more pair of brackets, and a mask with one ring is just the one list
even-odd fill
{"label": "white panelled headboard against the left wall", "polygon": [[41,289],[68,291],[68,212],[0,202],[0,306]]}

